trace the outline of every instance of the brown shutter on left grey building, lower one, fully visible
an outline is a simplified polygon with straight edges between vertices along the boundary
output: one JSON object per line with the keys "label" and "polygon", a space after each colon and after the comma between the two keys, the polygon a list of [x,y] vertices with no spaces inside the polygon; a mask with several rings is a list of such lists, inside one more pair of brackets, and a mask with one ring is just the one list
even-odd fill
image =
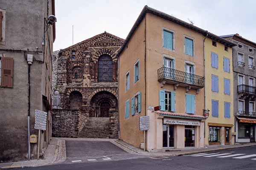
{"label": "brown shutter on left grey building, lower one, fully visible", "polygon": [[1,59],[1,87],[13,88],[13,58]]}

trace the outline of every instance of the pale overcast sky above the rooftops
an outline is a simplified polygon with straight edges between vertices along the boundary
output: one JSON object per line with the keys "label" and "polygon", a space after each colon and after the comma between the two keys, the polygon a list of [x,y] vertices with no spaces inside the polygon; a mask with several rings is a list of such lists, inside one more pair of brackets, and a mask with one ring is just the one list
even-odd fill
{"label": "pale overcast sky above the rooftops", "polygon": [[256,42],[256,0],[55,0],[54,51],[72,45],[72,26],[74,44],[104,31],[125,39],[145,5],[213,34]]}

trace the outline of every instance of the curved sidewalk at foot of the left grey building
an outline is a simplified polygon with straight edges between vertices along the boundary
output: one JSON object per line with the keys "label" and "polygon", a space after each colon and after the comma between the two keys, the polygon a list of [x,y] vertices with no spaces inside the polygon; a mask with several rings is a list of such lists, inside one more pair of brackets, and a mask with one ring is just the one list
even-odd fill
{"label": "curved sidewalk at foot of the left grey building", "polygon": [[33,159],[30,161],[18,161],[1,163],[0,169],[14,169],[21,167],[35,167],[47,164],[60,163],[66,159],[66,146],[65,140],[52,138],[50,144],[44,153],[44,159]]}

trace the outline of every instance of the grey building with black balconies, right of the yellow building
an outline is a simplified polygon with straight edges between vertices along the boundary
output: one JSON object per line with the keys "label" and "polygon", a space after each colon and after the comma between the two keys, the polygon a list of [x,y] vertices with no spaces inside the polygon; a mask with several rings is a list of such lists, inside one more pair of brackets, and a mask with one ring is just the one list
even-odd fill
{"label": "grey building with black balconies, right of the yellow building", "polygon": [[237,45],[233,47],[236,142],[256,142],[256,43],[239,34],[221,37]]}

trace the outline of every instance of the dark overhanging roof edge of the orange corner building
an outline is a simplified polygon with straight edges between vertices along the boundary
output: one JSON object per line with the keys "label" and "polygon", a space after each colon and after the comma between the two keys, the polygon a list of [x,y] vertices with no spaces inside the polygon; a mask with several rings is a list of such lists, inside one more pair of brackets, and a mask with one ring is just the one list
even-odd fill
{"label": "dark overhanging roof edge of the orange corner building", "polygon": [[119,57],[119,55],[122,53],[122,51],[124,50],[124,48],[126,47],[126,45],[128,44],[129,40],[131,39],[131,36],[134,34],[134,32],[136,31],[136,29],[137,29],[138,26],[140,25],[140,23],[141,23],[141,21],[143,20],[143,18],[145,17],[145,14],[146,14],[146,13],[154,14],[154,15],[156,15],[156,16],[158,16],[158,17],[162,17],[162,18],[164,18],[164,19],[166,19],[166,20],[172,21],[172,22],[177,23],[177,24],[179,24],[179,25],[181,25],[181,26],[184,26],[184,27],[186,27],[186,28],[189,28],[189,29],[192,29],[192,30],[194,30],[194,31],[197,31],[197,32],[203,34],[204,36],[207,36],[207,37],[211,38],[212,40],[215,40],[215,41],[217,41],[217,42],[220,42],[220,43],[222,43],[222,44],[224,44],[224,45],[226,45],[226,46],[229,46],[229,47],[236,46],[236,44],[234,44],[234,43],[232,43],[232,42],[230,42],[230,41],[227,41],[227,40],[225,40],[225,39],[223,39],[223,38],[221,38],[221,37],[218,37],[217,35],[212,34],[212,33],[210,33],[209,31],[206,31],[206,30],[204,30],[204,29],[201,29],[201,28],[199,28],[199,27],[197,27],[197,26],[194,26],[194,25],[192,25],[192,24],[190,24],[190,23],[186,23],[186,22],[183,21],[183,20],[180,20],[180,19],[178,19],[178,18],[176,18],[176,17],[173,17],[173,16],[171,16],[171,15],[169,15],[169,14],[166,14],[166,13],[163,13],[163,12],[161,12],[161,11],[158,11],[158,10],[156,10],[156,9],[154,9],[154,8],[150,8],[150,7],[148,7],[148,6],[144,6],[144,8],[143,8],[143,10],[141,11],[139,17],[137,18],[136,22],[134,23],[134,26],[131,28],[131,31],[129,32],[128,36],[126,37],[125,42],[123,43],[122,47],[120,48],[120,50],[119,50],[119,52],[118,52],[118,54],[117,54],[118,57]]}

